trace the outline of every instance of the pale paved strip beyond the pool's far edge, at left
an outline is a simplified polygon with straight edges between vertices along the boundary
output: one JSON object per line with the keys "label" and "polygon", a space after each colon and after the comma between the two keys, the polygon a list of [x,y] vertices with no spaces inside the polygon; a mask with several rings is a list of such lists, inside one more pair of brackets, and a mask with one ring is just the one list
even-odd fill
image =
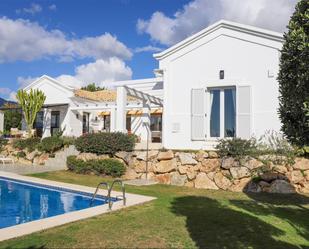
{"label": "pale paved strip beyond the pool's far edge, at left", "polygon": [[22,164],[0,164],[0,171],[16,173],[20,175],[42,173],[49,171],[65,170],[66,167],[63,166],[31,166]]}

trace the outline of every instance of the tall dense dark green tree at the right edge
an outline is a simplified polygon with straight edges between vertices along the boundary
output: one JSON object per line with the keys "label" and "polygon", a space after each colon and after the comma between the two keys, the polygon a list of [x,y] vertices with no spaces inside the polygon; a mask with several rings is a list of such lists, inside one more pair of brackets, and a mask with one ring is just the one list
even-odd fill
{"label": "tall dense dark green tree at the right edge", "polygon": [[284,34],[279,81],[279,117],[290,142],[309,145],[309,126],[303,108],[309,97],[309,1],[301,0]]}

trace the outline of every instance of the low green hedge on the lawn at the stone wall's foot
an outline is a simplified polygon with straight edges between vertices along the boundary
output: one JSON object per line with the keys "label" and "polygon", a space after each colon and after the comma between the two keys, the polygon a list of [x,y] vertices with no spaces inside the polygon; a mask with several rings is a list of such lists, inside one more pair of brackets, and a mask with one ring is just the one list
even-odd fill
{"label": "low green hedge on the lawn at the stone wall's foot", "polygon": [[124,164],[116,159],[83,161],[76,159],[76,156],[69,156],[67,158],[67,167],[79,174],[93,172],[97,175],[120,177],[125,173]]}

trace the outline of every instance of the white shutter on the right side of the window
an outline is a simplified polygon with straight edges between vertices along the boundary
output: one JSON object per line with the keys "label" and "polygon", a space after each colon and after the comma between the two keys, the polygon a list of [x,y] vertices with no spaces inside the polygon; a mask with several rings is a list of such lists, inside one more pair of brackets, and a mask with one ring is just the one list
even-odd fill
{"label": "white shutter on the right side of the window", "polygon": [[250,86],[238,86],[236,89],[237,103],[237,137],[249,139],[251,137],[252,126],[252,98]]}

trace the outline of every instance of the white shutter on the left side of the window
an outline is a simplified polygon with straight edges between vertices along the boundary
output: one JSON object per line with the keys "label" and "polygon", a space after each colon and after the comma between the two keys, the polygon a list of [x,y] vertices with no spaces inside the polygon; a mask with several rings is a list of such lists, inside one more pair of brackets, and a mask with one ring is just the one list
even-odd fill
{"label": "white shutter on the left side of the window", "polygon": [[191,139],[205,140],[206,134],[206,93],[205,89],[191,90]]}

